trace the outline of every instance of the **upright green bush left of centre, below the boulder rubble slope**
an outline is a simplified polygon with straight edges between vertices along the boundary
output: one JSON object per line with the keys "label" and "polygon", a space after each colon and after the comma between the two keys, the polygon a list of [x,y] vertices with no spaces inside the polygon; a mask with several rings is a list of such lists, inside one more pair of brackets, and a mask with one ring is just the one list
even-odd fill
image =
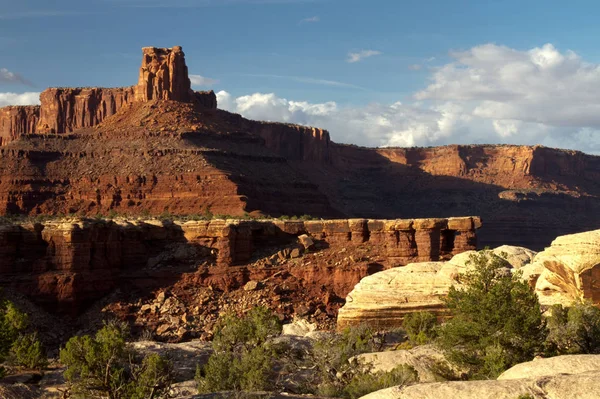
{"label": "upright green bush left of centre, below the boulder rubble slope", "polygon": [[276,350],[267,342],[281,333],[281,324],[270,310],[253,308],[244,317],[228,314],[215,327],[214,353],[196,369],[200,393],[262,391],[274,384]]}

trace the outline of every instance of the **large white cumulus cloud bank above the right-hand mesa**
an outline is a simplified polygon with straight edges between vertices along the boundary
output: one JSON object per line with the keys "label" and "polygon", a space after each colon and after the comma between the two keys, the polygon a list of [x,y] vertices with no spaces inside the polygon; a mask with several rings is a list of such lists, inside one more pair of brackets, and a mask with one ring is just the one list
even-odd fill
{"label": "large white cumulus cloud bank above the right-hand mesa", "polygon": [[359,145],[512,143],[600,153],[600,65],[551,44],[485,44],[450,56],[407,102],[342,106],[220,92],[219,104],[252,119],[323,127],[335,141]]}

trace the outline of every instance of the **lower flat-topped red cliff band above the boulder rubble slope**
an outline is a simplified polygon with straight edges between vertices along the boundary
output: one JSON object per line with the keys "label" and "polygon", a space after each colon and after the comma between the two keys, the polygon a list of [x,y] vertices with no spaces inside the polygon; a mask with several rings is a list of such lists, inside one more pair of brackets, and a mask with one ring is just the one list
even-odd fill
{"label": "lower flat-topped red cliff band above the boulder rubble slope", "polygon": [[[0,226],[0,284],[53,310],[78,313],[129,278],[143,279],[179,245],[219,270],[248,264],[308,234],[321,248],[368,244],[392,264],[439,260],[476,247],[477,217],[425,220],[172,222],[65,220]],[[296,244],[294,244],[296,243]],[[266,251],[266,252],[265,252]],[[360,276],[359,276],[360,278]],[[350,287],[351,288],[351,287]]]}

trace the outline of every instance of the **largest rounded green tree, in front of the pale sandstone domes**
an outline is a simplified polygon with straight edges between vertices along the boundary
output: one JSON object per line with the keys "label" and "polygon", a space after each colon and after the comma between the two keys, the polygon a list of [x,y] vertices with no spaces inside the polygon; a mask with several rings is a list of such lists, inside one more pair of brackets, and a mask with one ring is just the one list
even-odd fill
{"label": "largest rounded green tree, in front of the pale sandstone domes", "polygon": [[439,330],[439,345],[450,361],[470,370],[471,378],[495,378],[541,352],[547,336],[534,291],[520,273],[489,250],[471,256],[472,269],[450,289],[452,318]]}

